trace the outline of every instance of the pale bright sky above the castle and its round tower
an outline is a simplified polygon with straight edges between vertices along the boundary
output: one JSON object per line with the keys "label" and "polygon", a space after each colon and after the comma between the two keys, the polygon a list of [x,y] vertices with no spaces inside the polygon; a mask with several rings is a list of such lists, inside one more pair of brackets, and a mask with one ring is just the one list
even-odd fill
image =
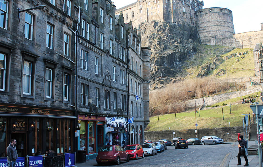
{"label": "pale bright sky above the castle and its round tower", "polygon": [[[137,0],[112,0],[116,9]],[[263,0],[203,0],[203,8],[221,7],[232,11],[235,33],[259,31],[263,23]]]}

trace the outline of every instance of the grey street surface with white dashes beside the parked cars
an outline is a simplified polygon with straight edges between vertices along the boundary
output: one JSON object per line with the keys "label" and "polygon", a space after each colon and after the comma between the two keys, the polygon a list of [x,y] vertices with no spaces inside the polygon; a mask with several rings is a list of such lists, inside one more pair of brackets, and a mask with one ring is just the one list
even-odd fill
{"label": "grey street surface with white dashes beside the parked cars", "polygon": [[[138,160],[130,160],[128,163],[121,162],[120,165],[105,164],[103,166],[129,166],[129,167],[215,167],[220,166],[226,154],[231,152],[233,144],[217,145],[189,145],[188,149],[174,149],[168,146],[167,150],[154,156],[145,156]],[[96,160],[89,160],[81,166],[97,166]]]}

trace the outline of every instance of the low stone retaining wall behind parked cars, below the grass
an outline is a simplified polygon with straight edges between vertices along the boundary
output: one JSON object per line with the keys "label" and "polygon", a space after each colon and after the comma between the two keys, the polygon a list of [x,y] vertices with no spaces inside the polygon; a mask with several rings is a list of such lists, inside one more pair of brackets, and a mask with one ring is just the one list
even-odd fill
{"label": "low stone retaining wall behind parked cars, below the grass", "polygon": [[[144,132],[145,140],[159,141],[160,139],[173,139],[173,132],[175,132],[174,137],[181,137],[183,139],[195,138],[195,129],[189,130],[171,130],[171,131],[146,131]],[[243,134],[243,127],[230,127],[230,128],[215,128],[215,129],[198,129],[197,128],[197,138],[201,140],[203,136],[215,135],[224,140],[224,142],[237,141],[237,133]],[[249,134],[249,127],[247,128],[247,133]]]}

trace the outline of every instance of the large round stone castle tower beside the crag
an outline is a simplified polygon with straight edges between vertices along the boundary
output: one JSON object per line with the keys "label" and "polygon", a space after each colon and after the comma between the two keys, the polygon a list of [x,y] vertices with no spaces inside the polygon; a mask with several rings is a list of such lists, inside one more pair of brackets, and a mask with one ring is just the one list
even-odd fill
{"label": "large round stone castle tower beside the crag", "polygon": [[202,44],[214,45],[217,38],[232,37],[232,11],[226,8],[205,8],[196,12],[196,28]]}

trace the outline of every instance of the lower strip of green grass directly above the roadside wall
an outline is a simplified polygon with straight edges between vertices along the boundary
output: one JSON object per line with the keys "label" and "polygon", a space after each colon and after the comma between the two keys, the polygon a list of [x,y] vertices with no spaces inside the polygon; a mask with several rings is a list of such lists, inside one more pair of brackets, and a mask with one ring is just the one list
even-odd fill
{"label": "lower strip of green grass directly above the roadside wall", "polygon": [[[203,128],[221,128],[221,127],[236,127],[242,126],[242,120],[244,118],[241,114],[252,113],[249,107],[250,104],[240,104],[231,106],[231,114],[229,112],[229,106],[224,106],[224,120],[222,118],[222,108],[207,109],[196,113],[196,122],[198,129]],[[170,128],[170,129],[169,129]],[[147,126],[147,131],[165,131],[165,130],[184,130],[195,129],[195,113],[194,110],[176,113],[165,114],[150,117],[150,123]]]}

